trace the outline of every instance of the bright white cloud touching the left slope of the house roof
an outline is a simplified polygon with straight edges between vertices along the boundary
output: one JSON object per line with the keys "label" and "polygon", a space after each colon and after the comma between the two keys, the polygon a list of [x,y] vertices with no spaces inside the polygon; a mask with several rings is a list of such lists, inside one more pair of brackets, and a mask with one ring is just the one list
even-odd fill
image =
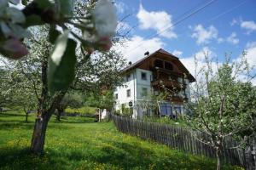
{"label": "bright white cloud touching the left slope of the house roof", "polygon": [[164,48],[165,46],[166,43],[162,42],[158,37],[144,39],[143,37],[134,36],[131,37],[131,40],[124,42],[123,46],[118,45],[113,48],[123,54],[126,59],[134,63],[142,59],[145,52],[154,53],[154,51],[159,48]]}

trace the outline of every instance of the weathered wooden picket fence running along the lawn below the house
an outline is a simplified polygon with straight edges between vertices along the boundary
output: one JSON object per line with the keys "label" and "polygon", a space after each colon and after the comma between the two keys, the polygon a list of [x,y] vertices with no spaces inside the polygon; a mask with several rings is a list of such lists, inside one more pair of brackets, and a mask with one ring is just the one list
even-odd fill
{"label": "weathered wooden picket fence running along the lawn below the house", "polygon": [[[191,131],[189,128],[175,125],[165,125],[155,122],[143,122],[123,116],[111,115],[114,125],[122,133],[130,133],[142,139],[152,139],[161,144],[187,153],[216,158],[211,146],[195,139],[195,134],[200,139],[209,138],[206,134]],[[234,139],[225,139],[225,148],[236,146]],[[246,167],[245,152],[241,149],[224,150],[223,161],[232,165]]]}

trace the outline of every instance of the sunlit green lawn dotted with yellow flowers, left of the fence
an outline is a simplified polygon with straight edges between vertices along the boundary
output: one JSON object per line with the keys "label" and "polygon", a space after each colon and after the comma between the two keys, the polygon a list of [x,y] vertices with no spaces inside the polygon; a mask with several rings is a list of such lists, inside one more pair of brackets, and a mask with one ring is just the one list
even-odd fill
{"label": "sunlit green lawn dotted with yellow flowers, left of the fence", "polygon": [[[44,156],[28,148],[33,116],[0,114],[0,169],[215,169],[216,162],[119,133],[112,122],[52,117]],[[240,169],[225,166],[224,169]]]}

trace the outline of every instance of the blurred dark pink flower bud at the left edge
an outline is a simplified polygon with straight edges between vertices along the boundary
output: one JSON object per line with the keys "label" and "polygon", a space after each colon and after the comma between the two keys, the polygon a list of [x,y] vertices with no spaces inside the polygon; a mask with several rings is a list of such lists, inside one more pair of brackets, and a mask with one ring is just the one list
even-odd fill
{"label": "blurred dark pink flower bud at the left edge", "polygon": [[5,41],[2,49],[3,53],[10,59],[20,59],[28,54],[28,50],[25,45],[15,38]]}

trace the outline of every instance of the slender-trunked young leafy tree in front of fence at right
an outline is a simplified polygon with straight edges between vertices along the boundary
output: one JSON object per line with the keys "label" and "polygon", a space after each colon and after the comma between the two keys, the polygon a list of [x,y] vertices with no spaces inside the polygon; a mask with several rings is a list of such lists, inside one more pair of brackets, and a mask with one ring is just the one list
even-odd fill
{"label": "slender-trunked young leafy tree in front of fence at right", "polygon": [[[250,82],[252,68],[244,57],[233,62],[227,57],[224,63],[216,65],[217,71],[213,71],[208,56],[206,63],[201,71],[195,73],[197,82],[192,94],[195,104],[187,104],[193,112],[187,122],[196,131],[207,134],[207,139],[201,139],[196,134],[195,137],[203,144],[212,146],[218,159],[217,169],[220,169],[223,150],[239,147],[224,148],[224,139],[253,128],[256,94]],[[241,77],[246,77],[246,82],[238,79]]]}

